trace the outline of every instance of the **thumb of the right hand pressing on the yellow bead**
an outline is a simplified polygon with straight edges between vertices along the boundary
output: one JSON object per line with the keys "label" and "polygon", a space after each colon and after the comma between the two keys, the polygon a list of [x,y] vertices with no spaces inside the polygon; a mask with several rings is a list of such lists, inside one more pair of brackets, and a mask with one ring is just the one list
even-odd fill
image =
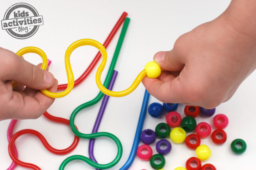
{"label": "thumb of the right hand pressing on the yellow bead", "polygon": [[180,71],[185,66],[182,58],[171,51],[160,51],[154,55],[154,61],[167,71]]}

